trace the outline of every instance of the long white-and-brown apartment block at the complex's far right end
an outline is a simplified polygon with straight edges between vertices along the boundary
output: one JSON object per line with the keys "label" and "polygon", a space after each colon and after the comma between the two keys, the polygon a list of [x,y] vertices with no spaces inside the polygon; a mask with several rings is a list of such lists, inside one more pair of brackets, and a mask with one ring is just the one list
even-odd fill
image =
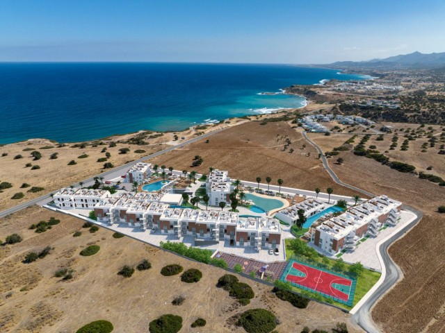
{"label": "long white-and-brown apartment block at the complex's far right end", "polygon": [[401,207],[401,203],[387,196],[372,198],[313,226],[311,241],[327,253],[353,250],[362,237],[377,236],[385,223],[396,225]]}

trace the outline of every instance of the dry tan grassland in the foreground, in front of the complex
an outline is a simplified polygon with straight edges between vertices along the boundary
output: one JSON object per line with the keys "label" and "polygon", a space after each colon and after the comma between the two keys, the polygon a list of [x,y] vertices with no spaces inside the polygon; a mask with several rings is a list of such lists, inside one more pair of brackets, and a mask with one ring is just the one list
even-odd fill
{"label": "dry tan grassland in the foreground, in front of the complex", "polygon": [[[50,216],[61,223],[42,234],[27,229]],[[257,307],[270,309],[280,318],[277,332],[300,332],[305,325],[330,330],[337,322],[348,323],[349,332],[361,332],[338,309],[316,302],[310,302],[307,309],[297,309],[273,296],[270,287],[241,277],[250,284],[255,298],[250,305],[240,307],[227,291],[216,288],[218,278],[226,271],[128,237],[114,239],[113,232],[102,228],[91,234],[81,228],[82,224],[79,219],[40,207],[0,219],[1,239],[10,232],[24,237],[19,244],[0,247],[1,332],[75,332],[99,319],[111,321],[115,332],[148,332],[149,322],[162,314],[181,316],[181,332],[198,332],[190,327],[198,317],[207,321],[204,331],[199,332],[243,332],[230,324],[230,318]],[[80,237],[72,237],[76,230],[82,231]],[[81,249],[90,244],[99,245],[99,253],[81,257]],[[26,253],[45,246],[54,247],[47,257],[22,263]],[[136,266],[142,259],[148,259],[152,268],[136,270],[131,278],[117,274],[124,264]],[[160,271],[166,264],[199,268],[203,278],[196,284],[186,284],[179,275],[163,277]],[[54,277],[59,268],[74,270],[72,280]],[[176,296],[186,298],[183,305],[171,304]]]}

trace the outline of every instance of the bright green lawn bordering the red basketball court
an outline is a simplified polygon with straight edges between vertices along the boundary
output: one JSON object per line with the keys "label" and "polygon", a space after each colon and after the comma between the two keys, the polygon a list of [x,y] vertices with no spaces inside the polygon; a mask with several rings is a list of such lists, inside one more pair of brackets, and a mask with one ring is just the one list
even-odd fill
{"label": "bright green lawn bordering the red basketball court", "polygon": [[[293,253],[293,250],[291,250],[289,248],[289,241],[291,241],[291,239],[285,239],[284,240],[284,243],[286,244],[286,257],[287,258],[290,258],[291,255],[295,255],[295,253]],[[318,255],[318,257],[316,257],[315,261],[320,263],[320,264],[324,264],[322,262],[323,257],[324,257],[323,255]],[[328,269],[332,269],[332,266],[334,265],[334,263],[336,261],[334,259],[330,259],[330,258],[327,258],[327,260],[329,261],[329,262],[326,262],[327,268]],[[351,265],[345,263],[344,271],[347,272],[349,266],[351,266]],[[357,302],[359,302],[359,300],[361,300],[363,298],[363,296],[366,295],[366,293],[369,291],[369,289],[371,289],[373,287],[373,285],[375,283],[377,283],[378,279],[380,279],[380,275],[381,275],[381,273],[374,272],[374,271],[371,271],[369,269],[364,269],[364,271],[362,272],[362,275],[360,275],[359,278],[357,279],[357,287],[355,289],[355,296],[354,296],[353,307],[357,304]],[[299,289],[299,288],[296,288],[296,287],[293,287],[293,289],[295,289],[299,293],[301,293],[301,292],[303,292],[303,294],[307,293],[307,291],[303,291],[302,289]],[[315,295],[315,293],[311,293],[311,294]],[[316,298],[320,298],[320,297],[321,296],[317,295]],[[346,305],[343,305],[343,304],[341,304],[339,302],[334,302],[334,301],[332,301],[332,300],[330,300],[328,298],[321,297],[320,299],[325,301],[325,302],[328,302],[328,303],[337,305],[339,307],[342,307],[343,309],[350,310],[350,309],[353,308],[353,307],[348,307]]]}

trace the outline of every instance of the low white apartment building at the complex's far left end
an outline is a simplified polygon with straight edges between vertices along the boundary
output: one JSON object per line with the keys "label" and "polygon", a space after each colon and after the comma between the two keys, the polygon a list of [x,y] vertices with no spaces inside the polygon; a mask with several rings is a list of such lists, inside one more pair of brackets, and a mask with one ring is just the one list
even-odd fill
{"label": "low white apartment building at the complex's far left end", "polygon": [[60,189],[53,196],[54,204],[59,208],[92,209],[100,200],[111,197],[103,189]]}

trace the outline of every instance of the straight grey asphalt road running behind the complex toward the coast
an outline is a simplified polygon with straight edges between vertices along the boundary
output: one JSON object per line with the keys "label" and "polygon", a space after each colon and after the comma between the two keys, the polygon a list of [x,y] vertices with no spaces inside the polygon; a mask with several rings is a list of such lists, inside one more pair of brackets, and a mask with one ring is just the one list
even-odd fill
{"label": "straight grey asphalt road running behind the complex toward the coast", "polygon": [[[209,133],[200,135],[199,137],[194,137],[193,139],[189,139],[189,140],[186,140],[184,142],[181,142],[181,143],[177,144],[176,146],[171,146],[170,148],[166,148],[163,151],[158,151],[156,153],[152,153],[151,155],[147,155],[145,157],[142,157],[139,160],[135,160],[135,161],[129,162],[127,164],[123,164],[120,167],[111,169],[110,171],[104,171],[102,173],[99,173],[96,176],[93,176],[93,177],[87,178],[85,180],[82,180],[83,186],[87,187],[87,186],[92,185],[94,183],[94,178],[95,177],[105,177],[105,176],[112,176],[111,178],[119,177],[120,175],[123,175],[123,174],[127,173],[127,170],[133,164],[135,164],[137,162],[143,162],[143,161],[151,159],[153,157],[157,157],[159,155],[163,155],[163,154],[168,153],[170,151],[174,151],[177,148],[184,147],[187,144],[193,144],[193,142],[197,142],[197,141],[200,141],[202,139],[205,139],[206,137],[209,137],[209,136],[211,136],[211,135],[213,135],[215,133],[219,133],[222,130],[225,130],[225,128],[221,128],[219,130],[214,130],[213,132],[209,132]],[[76,183],[74,183],[72,185],[76,185],[76,184],[79,184],[79,182],[76,182]],[[69,186],[70,185],[65,185],[65,187],[69,187]],[[34,198],[32,200],[26,201],[25,203],[21,203],[19,205],[11,207],[8,210],[3,210],[3,211],[0,212],[0,218],[4,217],[4,216],[7,216],[9,214],[12,214],[14,212],[18,212],[19,210],[23,210],[24,208],[30,207],[30,206],[35,205],[37,203],[48,203],[49,201],[52,200],[51,199],[51,194],[55,194],[57,191],[58,190],[53,191],[53,192],[51,192],[49,194],[44,194],[43,196],[39,196],[38,198]]]}

